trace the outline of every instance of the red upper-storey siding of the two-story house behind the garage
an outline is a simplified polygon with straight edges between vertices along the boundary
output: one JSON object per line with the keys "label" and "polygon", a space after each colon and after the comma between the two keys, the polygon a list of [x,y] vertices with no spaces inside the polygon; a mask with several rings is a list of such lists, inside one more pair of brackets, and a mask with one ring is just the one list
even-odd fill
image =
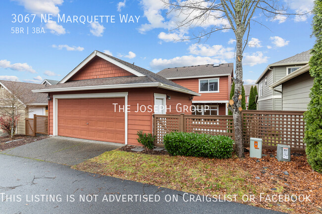
{"label": "red upper-storey siding of the two-story house behind the garage", "polygon": [[[178,79],[172,80],[174,83],[184,86],[195,92],[199,92],[199,79],[211,79],[216,77],[207,78],[193,78],[193,79]],[[200,93],[201,96],[194,96],[194,101],[206,101],[206,100],[228,100],[229,99],[229,81],[228,76],[217,77],[219,78],[219,92],[215,93]]]}

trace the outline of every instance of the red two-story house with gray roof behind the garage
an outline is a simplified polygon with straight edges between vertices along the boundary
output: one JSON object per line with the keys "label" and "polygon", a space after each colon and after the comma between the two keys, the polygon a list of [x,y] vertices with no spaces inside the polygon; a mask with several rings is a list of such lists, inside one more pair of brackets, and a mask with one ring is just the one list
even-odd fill
{"label": "red two-story house with gray roof behind the garage", "polygon": [[233,63],[166,68],[158,75],[201,94],[193,97],[192,104],[198,109],[193,114],[228,114],[226,105],[233,77]]}

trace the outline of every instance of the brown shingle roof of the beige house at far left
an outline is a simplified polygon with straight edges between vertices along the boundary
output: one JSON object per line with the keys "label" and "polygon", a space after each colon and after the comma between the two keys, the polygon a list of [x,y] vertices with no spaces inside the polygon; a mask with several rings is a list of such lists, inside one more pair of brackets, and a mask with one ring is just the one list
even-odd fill
{"label": "brown shingle roof of the beige house at far left", "polygon": [[[34,83],[5,81],[5,80],[0,80],[0,84],[2,86],[4,86],[9,91],[13,90],[13,88],[12,88],[13,84],[18,85],[19,88],[24,88],[26,90],[26,93],[28,94],[28,96],[27,97],[17,97],[17,98],[25,105],[36,105],[36,104],[48,105],[47,94],[36,94],[36,93],[32,92],[32,90],[44,87],[44,85],[34,84]],[[34,98],[32,103],[30,103],[29,97]]]}

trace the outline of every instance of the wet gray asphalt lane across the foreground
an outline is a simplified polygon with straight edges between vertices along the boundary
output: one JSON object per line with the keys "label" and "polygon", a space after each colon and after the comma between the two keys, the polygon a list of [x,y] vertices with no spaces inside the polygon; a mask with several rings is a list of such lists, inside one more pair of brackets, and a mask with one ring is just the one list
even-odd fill
{"label": "wet gray asphalt lane across the foreground", "polygon": [[277,214],[234,202],[194,201],[196,195],[55,163],[4,154],[0,163],[1,214]]}

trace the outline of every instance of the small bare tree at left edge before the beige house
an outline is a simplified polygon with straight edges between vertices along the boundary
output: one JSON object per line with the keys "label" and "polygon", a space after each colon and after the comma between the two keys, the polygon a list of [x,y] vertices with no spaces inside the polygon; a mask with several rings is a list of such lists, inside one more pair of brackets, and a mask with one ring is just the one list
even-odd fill
{"label": "small bare tree at left edge before the beige house", "polygon": [[25,118],[28,109],[21,100],[33,102],[33,97],[26,88],[17,82],[5,81],[5,86],[0,90],[0,118],[10,127],[10,138],[13,138],[19,118]]}

